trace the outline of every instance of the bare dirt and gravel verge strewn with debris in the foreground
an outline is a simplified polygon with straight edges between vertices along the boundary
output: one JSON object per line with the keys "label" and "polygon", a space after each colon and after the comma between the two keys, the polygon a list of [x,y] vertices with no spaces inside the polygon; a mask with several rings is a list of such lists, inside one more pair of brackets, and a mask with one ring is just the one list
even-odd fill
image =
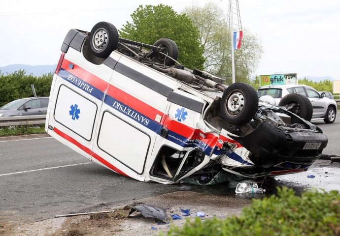
{"label": "bare dirt and gravel verge strewn with debris in the foreground", "polygon": [[[241,209],[250,204],[250,200],[236,199],[234,197],[215,196],[196,192],[173,192],[163,194],[156,197],[140,199],[138,202],[127,202],[123,206],[105,206],[115,211],[112,213],[96,213],[91,215],[82,215],[62,218],[58,228],[51,229],[43,228],[47,221],[42,224],[35,225],[40,228],[39,231],[34,231],[33,226],[21,226],[21,230],[12,232],[11,235],[46,235],[46,236],[89,236],[89,235],[115,235],[115,236],[145,236],[155,235],[169,230],[170,224],[154,218],[144,218],[139,212],[133,216],[128,214],[132,207],[139,204],[150,204],[166,209],[167,214],[178,214],[182,217],[181,220],[172,221],[172,224],[181,226],[186,219],[194,219],[198,211],[203,211],[208,219],[212,217],[227,218],[232,215],[238,215]],[[190,208],[189,216],[182,216],[180,207]],[[107,209],[106,208],[106,209]],[[98,209],[105,210],[105,209]],[[58,220],[50,219],[48,221]],[[61,220],[61,219],[59,219]],[[44,224],[45,223],[45,224]],[[1,228],[0,228],[1,230]],[[9,235],[9,234],[8,234]],[[6,235],[7,236],[7,235]]]}

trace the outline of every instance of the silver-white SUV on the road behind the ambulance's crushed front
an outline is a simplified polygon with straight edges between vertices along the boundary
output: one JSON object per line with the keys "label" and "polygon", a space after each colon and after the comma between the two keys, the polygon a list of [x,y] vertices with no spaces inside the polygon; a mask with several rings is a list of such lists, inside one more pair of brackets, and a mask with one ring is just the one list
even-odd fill
{"label": "silver-white SUV on the road behind the ambulance's crushed front", "polygon": [[[288,103],[286,99],[284,99],[284,97],[288,94],[290,94],[290,97],[292,96],[291,94],[301,94],[309,99],[313,108],[312,115],[307,115],[304,118],[308,120],[310,120],[311,118],[324,118],[324,121],[326,123],[333,123],[336,119],[338,111],[337,103],[328,97],[321,96],[321,93],[317,92],[312,87],[303,84],[261,86],[257,90],[257,94],[259,97],[264,95],[272,96],[274,98],[274,104],[272,105],[276,106],[292,105],[291,103]],[[299,103],[299,105],[303,105],[303,103],[306,103],[306,101],[303,100],[304,97],[302,96],[295,96],[295,98],[296,104]],[[289,100],[291,100],[291,98],[289,98]],[[293,110],[294,109],[298,112],[298,109],[296,109],[296,107],[293,108]]]}

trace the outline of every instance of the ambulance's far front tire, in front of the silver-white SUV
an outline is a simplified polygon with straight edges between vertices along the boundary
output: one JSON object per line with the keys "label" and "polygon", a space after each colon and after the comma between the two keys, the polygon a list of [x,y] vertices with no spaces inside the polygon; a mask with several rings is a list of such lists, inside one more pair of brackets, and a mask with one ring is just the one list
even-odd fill
{"label": "ambulance's far front tire, in front of the silver-white SUV", "polygon": [[309,99],[298,93],[284,96],[278,104],[279,107],[288,108],[288,111],[310,121],[313,116],[313,107]]}

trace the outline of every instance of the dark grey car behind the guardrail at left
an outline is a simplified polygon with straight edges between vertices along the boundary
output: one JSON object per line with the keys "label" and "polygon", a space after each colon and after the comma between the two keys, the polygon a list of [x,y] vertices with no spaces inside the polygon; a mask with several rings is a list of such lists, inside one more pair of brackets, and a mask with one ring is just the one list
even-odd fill
{"label": "dark grey car behind the guardrail at left", "polygon": [[0,107],[0,117],[46,115],[49,97],[26,97]]}

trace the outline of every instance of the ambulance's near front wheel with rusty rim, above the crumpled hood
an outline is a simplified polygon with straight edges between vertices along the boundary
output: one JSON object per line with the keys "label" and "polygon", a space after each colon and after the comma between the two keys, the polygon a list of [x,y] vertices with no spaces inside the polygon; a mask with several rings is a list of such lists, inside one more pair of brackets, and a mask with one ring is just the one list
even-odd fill
{"label": "ambulance's near front wheel with rusty rim, above the crumpled hood", "polygon": [[248,84],[235,83],[224,90],[221,99],[221,115],[233,125],[248,123],[254,118],[259,105],[256,90]]}

